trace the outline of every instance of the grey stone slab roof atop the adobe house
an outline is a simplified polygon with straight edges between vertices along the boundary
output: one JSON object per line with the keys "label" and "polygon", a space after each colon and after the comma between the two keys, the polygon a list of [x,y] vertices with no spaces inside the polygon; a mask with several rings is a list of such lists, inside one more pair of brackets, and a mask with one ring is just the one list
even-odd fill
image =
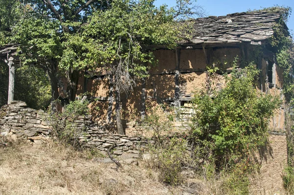
{"label": "grey stone slab roof atop the adobe house", "polygon": [[273,34],[280,13],[242,12],[193,20],[195,32],[186,44],[251,43],[261,45]]}

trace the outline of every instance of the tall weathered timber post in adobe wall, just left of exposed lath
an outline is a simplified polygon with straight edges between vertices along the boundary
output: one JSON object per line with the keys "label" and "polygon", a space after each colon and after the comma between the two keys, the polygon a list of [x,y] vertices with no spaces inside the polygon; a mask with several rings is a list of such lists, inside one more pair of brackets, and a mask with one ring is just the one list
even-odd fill
{"label": "tall weathered timber post in adobe wall, just left of exposed lath", "polygon": [[176,69],[174,75],[174,105],[175,107],[180,107],[180,52],[181,50],[175,49],[175,60],[176,60]]}

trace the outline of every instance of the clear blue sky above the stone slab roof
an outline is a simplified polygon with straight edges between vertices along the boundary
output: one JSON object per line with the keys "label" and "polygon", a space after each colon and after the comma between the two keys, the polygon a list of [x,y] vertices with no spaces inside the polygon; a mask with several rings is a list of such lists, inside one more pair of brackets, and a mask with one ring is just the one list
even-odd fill
{"label": "clear blue sky above the stone slab roof", "polygon": [[[156,0],[155,5],[167,4],[174,6],[176,0]],[[261,9],[275,5],[289,6],[294,9],[294,0],[197,0],[197,5],[201,6],[207,16],[225,16],[236,12],[245,12],[249,9]],[[290,15],[287,23],[292,35],[294,33],[294,12]],[[292,36],[293,37],[293,36]]]}

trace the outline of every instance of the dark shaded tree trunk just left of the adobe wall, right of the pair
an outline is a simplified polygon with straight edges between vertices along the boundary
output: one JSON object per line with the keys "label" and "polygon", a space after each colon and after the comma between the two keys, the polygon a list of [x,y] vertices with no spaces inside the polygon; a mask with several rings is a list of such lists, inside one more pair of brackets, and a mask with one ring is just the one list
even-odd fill
{"label": "dark shaded tree trunk just left of the adobe wall, right of the pair", "polygon": [[77,91],[78,71],[71,68],[68,71],[68,86],[66,90],[66,98],[68,101],[74,101]]}

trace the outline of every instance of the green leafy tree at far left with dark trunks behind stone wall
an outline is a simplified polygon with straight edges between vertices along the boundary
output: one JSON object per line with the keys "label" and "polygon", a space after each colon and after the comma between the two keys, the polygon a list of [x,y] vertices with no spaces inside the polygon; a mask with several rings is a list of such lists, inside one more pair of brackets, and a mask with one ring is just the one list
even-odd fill
{"label": "green leafy tree at far left with dark trunks behind stone wall", "polygon": [[[108,6],[109,0],[1,0],[0,15],[5,19],[1,28],[1,44],[21,44],[23,64],[43,69],[49,78],[52,100],[62,99],[59,76],[68,77],[67,102],[74,100],[79,68],[71,62],[62,64],[72,38],[85,24],[89,15]],[[11,11],[7,11],[13,7]],[[14,15],[15,13],[18,13]],[[4,20],[2,20],[4,21]],[[58,72],[58,70],[60,72]]]}

